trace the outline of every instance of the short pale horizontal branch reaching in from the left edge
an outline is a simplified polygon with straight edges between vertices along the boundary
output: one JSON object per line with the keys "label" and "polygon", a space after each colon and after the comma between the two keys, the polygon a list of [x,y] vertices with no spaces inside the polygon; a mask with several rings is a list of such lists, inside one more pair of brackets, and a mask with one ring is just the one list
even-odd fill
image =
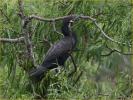
{"label": "short pale horizontal branch reaching in from the left edge", "polygon": [[0,38],[0,42],[4,42],[4,43],[20,43],[20,42],[24,42],[24,37],[19,37],[19,38],[15,38],[15,39]]}

